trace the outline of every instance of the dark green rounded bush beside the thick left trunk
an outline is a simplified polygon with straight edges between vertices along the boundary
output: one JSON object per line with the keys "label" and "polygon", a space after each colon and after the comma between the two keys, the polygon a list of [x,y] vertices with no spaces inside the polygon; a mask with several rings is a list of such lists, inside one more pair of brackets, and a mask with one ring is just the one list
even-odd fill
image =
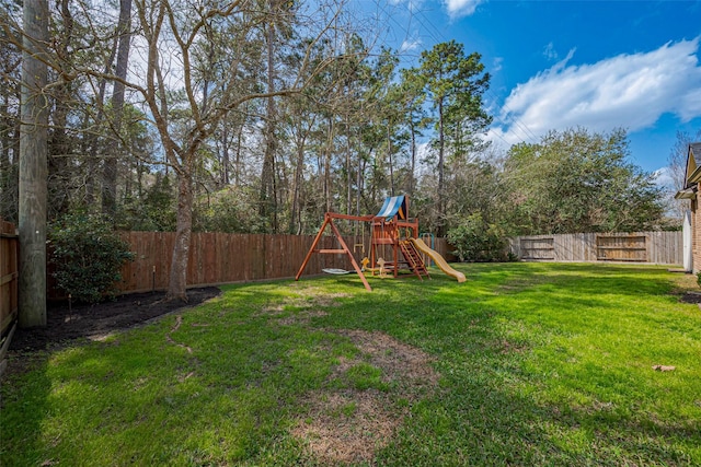
{"label": "dark green rounded bush beside the thick left trunk", "polygon": [[81,302],[114,297],[122,266],[134,258],[112,225],[94,214],[65,215],[51,225],[49,244],[58,288]]}

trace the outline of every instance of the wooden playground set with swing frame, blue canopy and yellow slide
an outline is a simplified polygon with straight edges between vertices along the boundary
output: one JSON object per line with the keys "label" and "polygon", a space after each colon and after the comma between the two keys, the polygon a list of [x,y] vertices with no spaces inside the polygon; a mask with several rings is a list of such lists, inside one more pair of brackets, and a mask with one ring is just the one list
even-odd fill
{"label": "wooden playground set with swing frame, blue canopy and yellow slide", "polygon": [[[334,223],[335,220],[364,222],[370,225],[370,257],[369,259],[367,257],[363,258],[363,267],[358,265],[353,252],[343,240],[341,231]],[[341,246],[340,248],[318,247],[319,241],[327,226],[331,227],[333,235],[336,237],[338,245]],[[355,246],[360,245],[354,245],[354,247]],[[361,246],[363,253],[365,253],[365,243],[363,243]],[[380,252],[382,252],[382,254],[386,253],[387,247],[391,249],[391,259],[384,259],[382,256],[379,256]],[[368,291],[371,291],[372,288],[368,283],[364,271],[370,271],[372,276],[379,273],[380,277],[384,277],[388,272],[392,272],[393,277],[398,277],[400,269],[406,268],[422,281],[424,280],[424,277],[430,278],[422,254],[429,257],[436,266],[440,268],[440,270],[457,279],[458,282],[466,281],[466,277],[462,272],[451,268],[438,252],[432,249],[423,242],[423,240],[418,238],[418,220],[410,219],[409,199],[405,195],[388,197],[384,200],[384,205],[382,205],[382,209],[380,209],[380,211],[375,215],[349,215],[336,212],[326,212],[324,214],[324,222],[319,229],[319,233],[312,242],[295,280],[299,280],[311,258],[311,255],[314,253],[347,255],[350,264],[353,265],[353,269],[357,272],[363,284]],[[371,267],[368,268],[368,265],[371,265]],[[345,270],[327,271],[333,273],[350,272]]]}

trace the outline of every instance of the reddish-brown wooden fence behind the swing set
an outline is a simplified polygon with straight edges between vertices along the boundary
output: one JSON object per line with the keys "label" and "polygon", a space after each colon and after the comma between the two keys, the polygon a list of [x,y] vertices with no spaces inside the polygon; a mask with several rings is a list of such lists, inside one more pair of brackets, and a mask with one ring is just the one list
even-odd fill
{"label": "reddish-brown wooden fence behind the swing set", "polygon": [[[168,288],[173,232],[123,232],[135,254],[134,261],[122,269],[122,292],[146,292]],[[187,267],[187,285],[208,285],[292,278],[297,275],[314,237],[312,235],[264,235],[193,233]],[[369,238],[344,236],[357,259],[368,255]],[[324,236],[321,248],[336,248],[331,236]],[[357,245],[354,248],[354,245]],[[363,246],[360,246],[363,245]],[[445,240],[438,238],[436,250],[446,254]],[[323,268],[353,269],[345,255],[312,255],[304,276],[323,273]],[[49,278],[49,282],[53,280]],[[60,293],[49,289],[49,296]]]}

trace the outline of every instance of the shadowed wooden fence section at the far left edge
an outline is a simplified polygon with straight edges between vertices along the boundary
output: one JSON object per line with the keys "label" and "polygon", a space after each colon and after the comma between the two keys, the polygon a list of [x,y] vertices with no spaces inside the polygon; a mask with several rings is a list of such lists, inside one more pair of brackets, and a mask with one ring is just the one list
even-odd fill
{"label": "shadowed wooden fence section at the far left edge", "polygon": [[14,224],[0,219],[0,374],[18,317],[20,241]]}

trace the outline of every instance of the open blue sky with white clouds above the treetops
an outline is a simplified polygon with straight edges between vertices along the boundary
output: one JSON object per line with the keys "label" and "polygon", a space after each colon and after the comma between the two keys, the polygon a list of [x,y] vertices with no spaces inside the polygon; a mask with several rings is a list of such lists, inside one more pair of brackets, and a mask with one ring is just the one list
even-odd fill
{"label": "open blue sky with white clouds above the treetops", "polygon": [[[367,1],[367,0],[366,0]],[[701,1],[377,0],[403,66],[456,39],[492,74],[499,147],[551,129],[625,128],[632,162],[667,165],[677,130],[701,130]]]}

